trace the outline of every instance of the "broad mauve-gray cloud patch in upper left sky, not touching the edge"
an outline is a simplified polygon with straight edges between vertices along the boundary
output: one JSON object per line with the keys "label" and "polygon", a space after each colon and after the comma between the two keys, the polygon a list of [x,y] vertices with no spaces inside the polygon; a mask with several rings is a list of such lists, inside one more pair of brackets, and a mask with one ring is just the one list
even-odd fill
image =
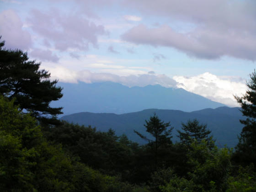
{"label": "broad mauve-gray cloud patch in upper left sky, not touching the edge", "polygon": [[52,40],[55,48],[60,51],[68,48],[88,50],[89,44],[97,47],[97,37],[106,34],[102,25],[96,25],[84,16],[61,15],[58,10],[44,13],[33,9],[27,20],[32,24],[34,32],[46,40]]}

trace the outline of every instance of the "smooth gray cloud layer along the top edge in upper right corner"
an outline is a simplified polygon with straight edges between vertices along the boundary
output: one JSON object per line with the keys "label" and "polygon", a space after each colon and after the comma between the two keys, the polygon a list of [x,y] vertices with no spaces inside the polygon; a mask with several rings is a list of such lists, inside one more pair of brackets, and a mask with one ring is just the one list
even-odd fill
{"label": "smooth gray cloud layer along the top edge in upper right corner", "polygon": [[233,29],[256,29],[256,1],[254,0],[124,0],[124,6],[132,7],[147,15],[166,16],[210,26],[226,26]]}

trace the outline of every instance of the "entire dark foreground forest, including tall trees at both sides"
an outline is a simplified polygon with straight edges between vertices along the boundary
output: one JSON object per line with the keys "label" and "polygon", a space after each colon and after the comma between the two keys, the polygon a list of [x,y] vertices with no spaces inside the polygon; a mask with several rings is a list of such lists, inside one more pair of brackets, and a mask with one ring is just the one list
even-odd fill
{"label": "entire dark foreground forest, including tall trees at both sides", "polygon": [[96,128],[60,121],[50,107],[62,88],[21,50],[0,42],[0,191],[255,192],[256,72],[236,97],[245,120],[235,149],[218,148],[206,124],[188,120],[172,142],[171,122],[145,120],[139,145]]}

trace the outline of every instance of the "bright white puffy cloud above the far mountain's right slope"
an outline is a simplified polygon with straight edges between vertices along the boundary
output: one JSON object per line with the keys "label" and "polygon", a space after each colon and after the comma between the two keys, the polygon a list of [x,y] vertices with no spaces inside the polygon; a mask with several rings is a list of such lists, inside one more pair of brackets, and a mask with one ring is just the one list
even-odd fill
{"label": "bright white puffy cloud above the far mountain's right slope", "polygon": [[177,86],[180,88],[231,107],[239,106],[234,95],[242,96],[247,90],[244,80],[218,77],[210,73],[193,77],[174,76],[173,79],[178,82]]}

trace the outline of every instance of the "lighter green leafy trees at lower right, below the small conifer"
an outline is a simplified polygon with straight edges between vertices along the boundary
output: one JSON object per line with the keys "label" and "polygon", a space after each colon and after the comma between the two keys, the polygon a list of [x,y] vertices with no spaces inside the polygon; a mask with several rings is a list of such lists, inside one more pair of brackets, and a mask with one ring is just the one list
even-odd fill
{"label": "lighter green leafy trees at lower right, below the small conifer", "polygon": [[188,152],[188,163],[192,165],[189,177],[174,174],[165,187],[164,192],[224,192],[227,188],[230,157],[232,150],[209,149],[205,140],[192,142]]}

